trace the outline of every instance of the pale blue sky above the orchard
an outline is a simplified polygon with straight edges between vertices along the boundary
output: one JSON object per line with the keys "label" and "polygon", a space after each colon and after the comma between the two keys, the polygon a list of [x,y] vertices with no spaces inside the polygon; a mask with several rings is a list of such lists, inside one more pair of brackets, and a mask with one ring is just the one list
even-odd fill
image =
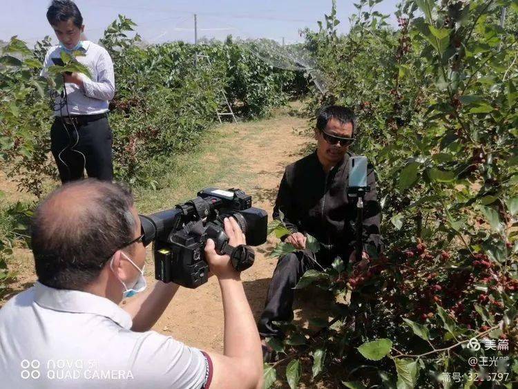
{"label": "pale blue sky above the orchard", "polygon": [[[338,0],[339,30],[346,32],[354,1]],[[384,0],[376,9],[394,20],[398,0]],[[0,39],[12,35],[33,44],[53,31],[46,20],[49,0],[1,0]],[[224,39],[266,37],[287,44],[300,41],[300,28],[316,30],[316,21],[329,13],[331,0],[77,0],[88,39],[97,41],[118,14],[139,26],[137,32],[151,43],[194,41],[193,14],[198,14],[198,37]]]}

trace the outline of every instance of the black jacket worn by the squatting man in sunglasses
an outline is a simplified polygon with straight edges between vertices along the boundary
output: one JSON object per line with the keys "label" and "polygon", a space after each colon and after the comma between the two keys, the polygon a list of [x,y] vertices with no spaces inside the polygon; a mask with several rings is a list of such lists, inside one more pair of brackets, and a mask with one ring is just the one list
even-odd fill
{"label": "black jacket worn by the squatting man in sunglasses", "polygon": [[[290,164],[280,182],[274,207],[274,219],[279,219],[282,211],[289,230],[310,234],[320,243],[332,245],[326,256],[340,255],[345,261],[356,238],[356,198],[347,197],[348,161],[352,155],[346,153],[342,162],[327,174],[316,151]],[[370,191],[364,197],[363,242],[380,252],[381,207],[372,164],[367,167],[367,185]]]}

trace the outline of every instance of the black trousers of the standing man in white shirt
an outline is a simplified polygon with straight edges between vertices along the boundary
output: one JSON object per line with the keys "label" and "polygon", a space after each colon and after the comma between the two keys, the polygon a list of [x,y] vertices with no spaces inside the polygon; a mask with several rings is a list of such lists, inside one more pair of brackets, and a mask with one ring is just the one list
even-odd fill
{"label": "black trousers of the standing man in white shirt", "polygon": [[113,137],[107,117],[75,126],[56,117],[50,140],[62,183],[84,178],[85,169],[90,178],[113,180]]}

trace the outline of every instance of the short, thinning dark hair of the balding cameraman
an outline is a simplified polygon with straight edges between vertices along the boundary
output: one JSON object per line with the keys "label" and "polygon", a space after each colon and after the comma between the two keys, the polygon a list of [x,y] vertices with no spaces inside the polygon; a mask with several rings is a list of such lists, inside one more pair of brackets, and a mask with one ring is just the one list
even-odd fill
{"label": "short, thinning dark hair of the balding cameraman", "polygon": [[128,188],[95,179],[70,182],[52,192],[32,218],[32,253],[39,282],[84,290],[108,259],[133,239],[132,206]]}

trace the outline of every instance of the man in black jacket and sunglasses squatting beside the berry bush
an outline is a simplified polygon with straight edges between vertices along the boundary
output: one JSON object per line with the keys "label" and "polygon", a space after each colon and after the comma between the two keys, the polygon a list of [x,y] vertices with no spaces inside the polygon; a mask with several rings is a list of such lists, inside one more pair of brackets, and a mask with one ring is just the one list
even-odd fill
{"label": "man in black jacket and sunglasses squatting beside the berry bush", "polygon": [[[282,220],[290,234],[281,239],[298,250],[280,256],[269,285],[265,310],[258,328],[262,339],[263,358],[271,361],[273,351],[266,338],[284,338],[276,321],[294,317],[294,287],[308,269],[323,270],[339,256],[355,258],[356,202],[347,197],[348,161],[354,153],[349,146],[357,135],[356,116],[343,106],[326,106],[316,120],[316,150],[288,165],[282,176],[274,207],[274,219]],[[363,258],[367,252],[381,252],[381,207],[376,198],[374,167],[367,167],[367,185],[363,218]],[[314,255],[306,248],[307,234],[320,243]]]}

